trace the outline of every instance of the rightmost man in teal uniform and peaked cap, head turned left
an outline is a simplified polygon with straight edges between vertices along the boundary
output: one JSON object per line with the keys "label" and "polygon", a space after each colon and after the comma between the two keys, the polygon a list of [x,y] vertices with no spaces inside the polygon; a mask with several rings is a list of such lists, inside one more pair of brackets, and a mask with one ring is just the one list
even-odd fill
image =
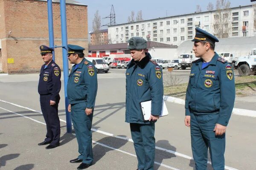
{"label": "rightmost man in teal uniform and peaked cap, head turned left", "polygon": [[234,101],[235,81],[230,63],[214,52],[218,39],[196,28],[186,91],[185,125],[190,127],[196,170],[207,169],[208,148],[214,170],[224,170],[225,132]]}

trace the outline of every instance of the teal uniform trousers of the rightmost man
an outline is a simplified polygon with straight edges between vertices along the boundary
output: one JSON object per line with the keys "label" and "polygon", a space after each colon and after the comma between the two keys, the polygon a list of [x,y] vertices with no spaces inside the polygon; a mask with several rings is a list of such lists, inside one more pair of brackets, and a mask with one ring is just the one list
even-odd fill
{"label": "teal uniform trousers of the rightmost man", "polygon": [[215,136],[218,113],[191,114],[190,133],[196,170],[207,170],[208,148],[214,170],[224,170],[225,133]]}

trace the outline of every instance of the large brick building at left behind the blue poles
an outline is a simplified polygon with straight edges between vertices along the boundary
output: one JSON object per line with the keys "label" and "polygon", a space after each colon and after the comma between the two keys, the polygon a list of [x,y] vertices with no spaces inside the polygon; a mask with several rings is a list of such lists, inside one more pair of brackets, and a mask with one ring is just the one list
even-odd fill
{"label": "large brick building at left behind the blue poles", "polygon": [[[88,51],[87,6],[66,0],[69,44]],[[60,3],[52,2],[54,43],[61,45]],[[39,72],[44,62],[39,46],[49,45],[47,0],[0,0],[0,72]],[[13,63],[12,63],[13,62]],[[63,68],[62,49],[55,48],[55,62]]]}

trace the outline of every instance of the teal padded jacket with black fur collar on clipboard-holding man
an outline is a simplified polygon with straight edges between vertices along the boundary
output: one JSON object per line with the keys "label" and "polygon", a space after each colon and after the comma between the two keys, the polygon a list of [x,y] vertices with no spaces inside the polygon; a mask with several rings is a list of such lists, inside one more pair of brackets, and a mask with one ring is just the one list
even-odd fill
{"label": "teal padded jacket with black fur collar on clipboard-holding man", "polygon": [[151,115],[160,115],[163,105],[163,73],[146,53],[140,62],[133,59],[126,70],[125,122],[148,124],[143,121],[140,102],[151,101]]}

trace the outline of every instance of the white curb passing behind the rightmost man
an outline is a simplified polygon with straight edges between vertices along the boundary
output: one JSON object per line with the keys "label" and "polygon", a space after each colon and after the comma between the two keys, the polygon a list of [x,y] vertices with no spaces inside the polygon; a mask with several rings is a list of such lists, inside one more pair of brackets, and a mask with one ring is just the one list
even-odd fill
{"label": "white curb passing behind the rightmost man", "polygon": [[[164,99],[164,101],[167,101],[167,102],[172,102],[172,103],[177,103],[177,104],[180,104],[180,105],[185,105],[185,100],[184,99],[171,97],[171,96],[163,96],[163,99]],[[240,116],[256,117],[256,111],[252,111],[252,110],[233,108],[232,113],[236,114],[236,115],[240,115]]]}

